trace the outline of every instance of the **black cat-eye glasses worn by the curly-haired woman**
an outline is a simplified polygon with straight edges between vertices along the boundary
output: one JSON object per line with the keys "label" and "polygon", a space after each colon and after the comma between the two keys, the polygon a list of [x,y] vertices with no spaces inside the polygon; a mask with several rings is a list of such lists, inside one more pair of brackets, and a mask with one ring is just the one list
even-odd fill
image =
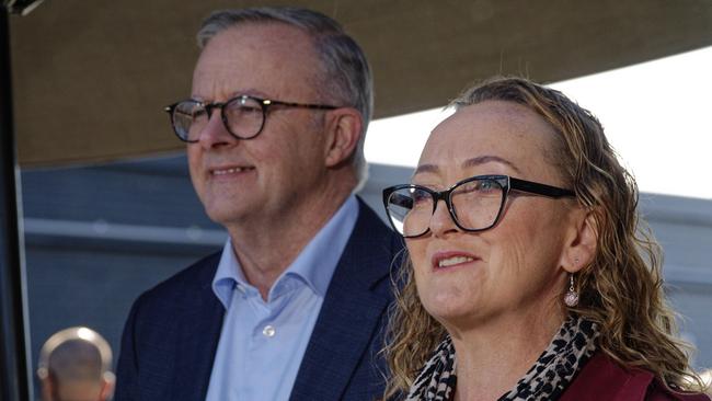
{"label": "black cat-eye glasses worn by the curly-haired woman", "polygon": [[463,231],[484,231],[494,227],[509,191],[552,198],[575,197],[573,191],[519,180],[508,175],[476,175],[446,191],[433,191],[415,184],[383,190],[383,206],[393,229],[405,238],[428,232],[430,217],[439,200],[445,200],[452,221]]}

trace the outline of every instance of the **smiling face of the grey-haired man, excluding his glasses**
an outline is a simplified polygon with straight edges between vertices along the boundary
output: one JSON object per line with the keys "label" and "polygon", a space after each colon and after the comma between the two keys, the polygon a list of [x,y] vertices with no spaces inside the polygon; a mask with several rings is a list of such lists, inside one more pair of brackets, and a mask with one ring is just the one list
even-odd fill
{"label": "smiling face of the grey-haired man, excluding his glasses", "polygon": [[[192,98],[225,102],[250,94],[322,103],[313,84],[319,70],[311,39],[295,27],[231,27],[200,54]],[[284,221],[319,196],[325,182],[323,113],[275,106],[261,134],[245,140],[231,136],[214,111],[199,141],[187,145],[193,185],[208,216],[223,226]]]}

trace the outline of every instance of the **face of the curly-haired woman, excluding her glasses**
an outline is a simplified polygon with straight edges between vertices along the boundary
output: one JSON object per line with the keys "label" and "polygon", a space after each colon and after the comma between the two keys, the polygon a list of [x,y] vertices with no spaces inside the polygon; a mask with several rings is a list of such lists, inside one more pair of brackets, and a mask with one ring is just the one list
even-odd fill
{"label": "face of the curly-haired woman, excluding her glasses", "polygon": [[[433,130],[413,183],[443,191],[473,175],[506,174],[566,187],[550,162],[554,135],[516,103],[463,107]],[[575,231],[572,205],[513,191],[495,227],[464,232],[440,202],[429,232],[406,241],[425,309],[448,330],[561,312],[566,273],[560,267]]]}

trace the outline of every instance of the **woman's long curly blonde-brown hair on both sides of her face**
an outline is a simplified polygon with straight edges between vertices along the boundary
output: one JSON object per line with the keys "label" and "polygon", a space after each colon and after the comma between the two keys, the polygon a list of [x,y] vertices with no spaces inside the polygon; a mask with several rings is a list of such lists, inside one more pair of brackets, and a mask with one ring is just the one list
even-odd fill
{"label": "woman's long curly blonde-brown hair on both sides of her face", "polygon": [[[467,90],[456,110],[486,101],[524,105],[556,133],[549,159],[594,216],[597,250],[577,273],[579,302],[570,313],[595,322],[598,347],[619,364],[648,370],[673,390],[701,391],[687,344],[676,337],[675,313],[663,290],[662,253],[638,215],[635,180],[619,163],[598,119],[564,94],[522,78],[493,78]],[[407,392],[418,369],[446,335],[421,303],[409,257],[400,270],[387,346],[384,398]],[[397,286],[399,287],[399,286]],[[562,288],[562,298],[565,288]]]}

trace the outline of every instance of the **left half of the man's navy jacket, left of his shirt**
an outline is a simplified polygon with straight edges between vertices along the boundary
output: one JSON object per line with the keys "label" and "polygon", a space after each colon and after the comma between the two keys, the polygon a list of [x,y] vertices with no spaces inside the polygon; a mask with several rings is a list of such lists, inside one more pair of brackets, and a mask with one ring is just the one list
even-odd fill
{"label": "left half of the man's navy jacket, left of his shirt", "polygon": [[122,336],[116,400],[205,397],[223,313],[210,285],[219,260],[219,252],[204,257],[134,302]]}

